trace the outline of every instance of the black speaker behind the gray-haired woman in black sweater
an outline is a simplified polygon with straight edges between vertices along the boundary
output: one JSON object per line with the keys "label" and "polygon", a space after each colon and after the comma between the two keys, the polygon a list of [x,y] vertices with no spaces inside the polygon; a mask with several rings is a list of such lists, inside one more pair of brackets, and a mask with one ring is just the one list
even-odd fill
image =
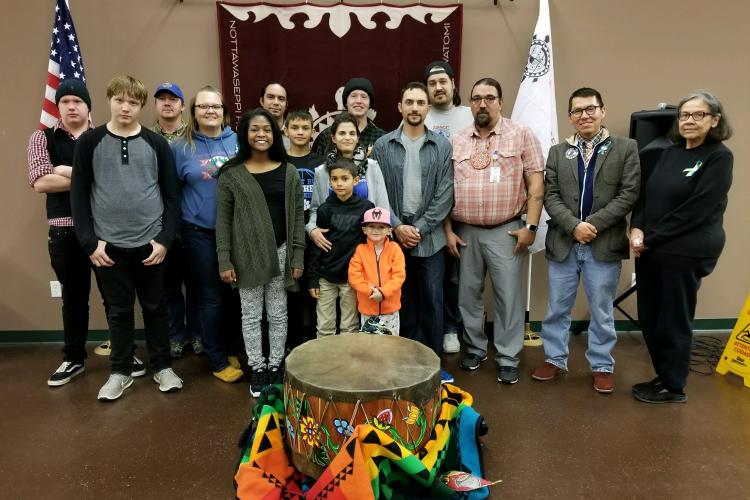
{"label": "black speaker behind the gray-haired woman in black sweater", "polygon": [[652,111],[636,111],[630,115],[630,138],[638,143],[642,169],[650,171],[661,152],[672,144],[667,133],[676,118],[677,108],[674,106]]}

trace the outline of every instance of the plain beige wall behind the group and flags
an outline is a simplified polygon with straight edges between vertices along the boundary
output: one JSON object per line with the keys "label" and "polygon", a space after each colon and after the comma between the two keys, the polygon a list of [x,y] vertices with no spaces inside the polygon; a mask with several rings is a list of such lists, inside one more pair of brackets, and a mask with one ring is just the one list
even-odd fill
{"label": "plain beige wall behind the group and flags", "polygon": [[[294,0],[295,2],[297,0]],[[369,1],[369,0],[368,0]],[[399,2],[391,0],[394,3]],[[216,6],[213,0],[70,0],[83,51],[97,124],[107,119],[104,88],[109,78],[130,73],[149,88],[177,81],[192,95],[218,85]],[[292,3],[292,2],[289,2]],[[49,297],[55,279],[46,252],[44,200],[26,184],[26,143],[36,129],[49,48],[52,0],[8,2],[0,20],[2,124],[0,125],[0,331],[61,328],[59,299]],[[483,76],[504,87],[504,114],[510,115],[529,39],[537,16],[535,0],[470,0],[464,3],[462,96]],[[750,146],[750,3],[738,0],[550,0],[560,133],[568,94],[588,85],[607,104],[612,132],[627,134],[633,111],[676,102],[706,87],[723,100],[737,134],[734,186],[726,214],[727,247],[704,283],[699,318],[736,316],[750,289],[747,265],[750,211],[743,188]],[[269,50],[273,45],[269,44]],[[152,101],[146,122],[153,120]],[[534,257],[532,319],[546,307],[544,258]],[[624,289],[632,264],[623,269]],[[582,302],[579,300],[579,302]],[[634,308],[634,301],[627,303]],[[94,306],[93,328],[104,328]],[[578,314],[585,310],[580,304]]]}

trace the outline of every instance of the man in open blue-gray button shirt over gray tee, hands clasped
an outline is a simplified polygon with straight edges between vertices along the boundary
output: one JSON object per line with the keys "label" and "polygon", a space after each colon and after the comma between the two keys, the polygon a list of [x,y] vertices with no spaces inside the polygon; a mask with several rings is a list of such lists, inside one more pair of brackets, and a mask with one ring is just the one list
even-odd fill
{"label": "man in open blue-gray button shirt over gray tee, hands clasped", "polygon": [[[448,139],[425,127],[427,88],[406,85],[398,109],[403,124],[375,142],[391,204],[394,233],[406,256],[401,334],[443,351],[443,220],[453,206],[453,165]],[[443,382],[452,382],[444,370]]]}

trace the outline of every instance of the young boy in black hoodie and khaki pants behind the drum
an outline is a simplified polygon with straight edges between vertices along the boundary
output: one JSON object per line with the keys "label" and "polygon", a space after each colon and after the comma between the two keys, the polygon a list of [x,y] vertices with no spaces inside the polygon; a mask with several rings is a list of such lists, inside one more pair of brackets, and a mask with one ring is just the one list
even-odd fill
{"label": "young boy in black hoodie and khaki pants behind the drum", "polygon": [[310,295],[318,300],[318,337],[336,333],[337,298],[341,309],[339,330],[359,331],[357,296],[348,283],[349,260],[362,242],[362,217],[375,206],[352,191],[359,181],[353,161],[341,158],[326,168],[332,192],[318,208],[317,226],[326,232],[332,247],[323,252],[313,245],[308,265]]}

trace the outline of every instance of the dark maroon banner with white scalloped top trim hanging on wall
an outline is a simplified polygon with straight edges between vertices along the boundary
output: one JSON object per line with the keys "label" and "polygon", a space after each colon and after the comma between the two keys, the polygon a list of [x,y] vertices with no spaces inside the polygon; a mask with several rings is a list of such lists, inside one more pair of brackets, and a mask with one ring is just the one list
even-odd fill
{"label": "dark maroon banner with white scalloped top trim hanging on wall", "polygon": [[458,84],[461,5],[273,5],[217,2],[224,98],[232,123],[259,105],[261,88],[278,81],[289,110],[309,109],[315,132],[344,109],[344,84],[368,78],[375,87],[371,118],[382,129],[401,121],[396,104],[404,84],[424,67],[448,61]]}

